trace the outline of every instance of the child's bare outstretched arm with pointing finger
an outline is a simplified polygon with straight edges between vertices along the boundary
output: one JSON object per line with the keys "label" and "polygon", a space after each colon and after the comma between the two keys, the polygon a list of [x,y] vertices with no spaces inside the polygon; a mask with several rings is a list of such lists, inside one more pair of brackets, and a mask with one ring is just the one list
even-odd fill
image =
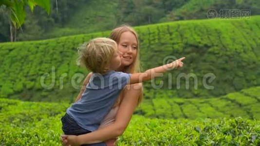
{"label": "child's bare outstretched arm with pointing finger", "polygon": [[170,69],[179,68],[179,67],[181,68],[183,67],[183,62],[182,62],[183,59],[185,59],[185,57],[175,60],[169,64],[149,69],[144,73],[133,73],[130,77],[128,84],[136,84],[136,83],[148,81],[158,76],[159,75],[158,73],[165,73]]}

